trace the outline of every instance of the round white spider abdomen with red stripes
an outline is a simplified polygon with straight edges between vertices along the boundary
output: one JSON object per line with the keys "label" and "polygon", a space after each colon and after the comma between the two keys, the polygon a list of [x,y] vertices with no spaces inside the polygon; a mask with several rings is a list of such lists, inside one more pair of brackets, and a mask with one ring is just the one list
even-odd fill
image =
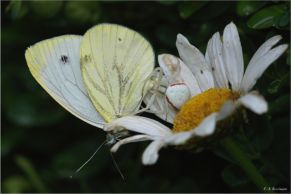
{"label": "round white spider abdomen with red stripes", "polygon": [[190,100],[191,92],[185,83],[174,83],[168,86],[165,92],[165,98],[170,108],[178,111]]}

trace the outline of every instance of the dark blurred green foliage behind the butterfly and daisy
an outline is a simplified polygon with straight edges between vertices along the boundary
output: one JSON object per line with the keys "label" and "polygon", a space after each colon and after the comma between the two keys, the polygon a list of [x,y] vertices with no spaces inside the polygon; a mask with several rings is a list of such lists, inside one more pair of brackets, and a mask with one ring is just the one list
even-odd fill
{"label": "dark blurred green foliage behind the butterfly and daisy", "polygon": [[279,44],[289,44],[255,85],[269,112],[248,111],[244,130],[253,150],[234,138],[271,186],[287,188],[278,193],[290,193],[290,1],[1,1],[1,193],[258,193],[230,158],[219,156],[219,146],[197,154],[162,148],[151,166],[141,163],[149,141],[121,146],[113,156],[127,185],[103,146],[70,178],[106,132],[52,99],[24,58],[27,47],[39,41],[83,35],[103,22],[141,33],[156,58],[179,56],[178,33],[205,54],[211,36],[222,35],[231,21],[239,31],[245,67],[270,37],[280,34]]}

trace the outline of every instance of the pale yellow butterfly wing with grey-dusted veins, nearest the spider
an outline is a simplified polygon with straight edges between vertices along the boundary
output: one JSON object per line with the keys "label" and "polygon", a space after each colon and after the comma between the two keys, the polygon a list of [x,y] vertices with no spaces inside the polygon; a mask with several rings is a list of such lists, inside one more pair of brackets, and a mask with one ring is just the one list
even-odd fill
{"label": "pale yellow butterfly wing with grey-dusted veins, nearest the spider", "polygon": [[80,62],[84,83],[107,121],[138,109],[144,81],[154,69],[154,53],[140,34],[102,24],[84,35]]}

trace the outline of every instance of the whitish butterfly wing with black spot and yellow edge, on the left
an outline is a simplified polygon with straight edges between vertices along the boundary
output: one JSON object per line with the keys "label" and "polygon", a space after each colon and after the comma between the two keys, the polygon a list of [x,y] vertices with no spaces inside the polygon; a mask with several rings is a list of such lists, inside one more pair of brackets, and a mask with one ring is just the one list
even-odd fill
{"label": "whitish butterfly wing with black spot and yellow edge, on the left", "polygon": [[38,83],[65,109],[96,127],[107,123],[85,88],[80,68],[82,36],[59,36],[36,43],[25,52]]}

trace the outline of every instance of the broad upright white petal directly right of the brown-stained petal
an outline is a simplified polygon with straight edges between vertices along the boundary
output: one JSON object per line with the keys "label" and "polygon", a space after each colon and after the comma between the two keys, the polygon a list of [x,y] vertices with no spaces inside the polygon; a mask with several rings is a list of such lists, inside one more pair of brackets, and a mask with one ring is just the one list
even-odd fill
{"label": "broad upright white petal directly right of the brown-stained petal", "polygon": [[189,67],[202,92],[214,88],[214,78],[204,55],[182,35],[177,35],[176,47],[180,58]]}

